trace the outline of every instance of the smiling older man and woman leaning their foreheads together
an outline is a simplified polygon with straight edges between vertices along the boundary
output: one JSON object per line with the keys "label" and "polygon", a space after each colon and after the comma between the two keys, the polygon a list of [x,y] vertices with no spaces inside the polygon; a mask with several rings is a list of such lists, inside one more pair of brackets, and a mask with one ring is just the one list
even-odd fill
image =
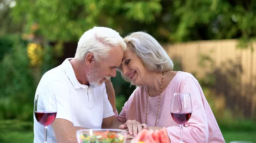
{"label": "smiling older man and woman leaning their foreheads together", "polygon": [[[172,69],[166,51],[145,32],[125,38],[105,27],[84,32],[75,57],[44,73],[35,93],[55,94],[57,115],[48,127],[48,142],[76,143],[80,129],[126,129],[132,137],[143,127],[165,127],[171,143],[179,143],[180,125],[170,114],[171,100],[174,93],[190,93],[193,113],[183,125],[183,142],[225,143],[197,79]],[[137,86],[120,113],[110,80],[116,70]],[[35,117],[34,134],[34,143],[43,142],[44,127]]]}

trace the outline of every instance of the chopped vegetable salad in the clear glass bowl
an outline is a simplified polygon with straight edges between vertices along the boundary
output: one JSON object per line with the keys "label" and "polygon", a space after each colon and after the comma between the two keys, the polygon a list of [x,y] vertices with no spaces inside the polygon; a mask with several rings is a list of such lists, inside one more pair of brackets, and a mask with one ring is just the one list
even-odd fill
{"label": "chopped vegetable salad in the clear glass bowl", "polygon": [[125,136],[116,132],[93,132],[93,135],[82,134],[80,143],[124,143]]}

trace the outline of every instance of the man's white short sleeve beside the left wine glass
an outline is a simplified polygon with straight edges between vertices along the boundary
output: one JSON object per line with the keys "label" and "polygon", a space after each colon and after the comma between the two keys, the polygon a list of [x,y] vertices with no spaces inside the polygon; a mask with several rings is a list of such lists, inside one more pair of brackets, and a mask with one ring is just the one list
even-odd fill
{"label": "man's white short sleeve beside the left wine glass", "polygon": [[57,104],[56,118],[72,121],[71,93],[67,84],[62,81],[50,81],[44,88],[45,93],[55,94]]}

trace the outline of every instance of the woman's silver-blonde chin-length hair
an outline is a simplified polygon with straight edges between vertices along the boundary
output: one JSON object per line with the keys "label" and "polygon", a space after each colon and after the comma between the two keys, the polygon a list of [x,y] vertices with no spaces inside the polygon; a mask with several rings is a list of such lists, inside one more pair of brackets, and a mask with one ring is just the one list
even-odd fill
{"label": "woman's silver-blonde chin-length hair", "polygon": [[[173,69],[173,62],[154,37],[145,32],[134,32],[124,38],[127,46],[142,60],[151,72],[165,72]],[[122,70],[118,69],[121,73]],[[123,76],[125,81],[129,78]]]}

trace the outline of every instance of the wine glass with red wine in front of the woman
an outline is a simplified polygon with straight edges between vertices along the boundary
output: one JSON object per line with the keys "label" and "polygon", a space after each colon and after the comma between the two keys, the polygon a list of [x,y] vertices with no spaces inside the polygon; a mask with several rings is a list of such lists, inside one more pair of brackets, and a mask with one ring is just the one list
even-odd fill
{"label": "wine glass with red wine in front of the woman", "polygon": [[180,143],[182,140],[182,127],[189,121],[192,114],[192,102],[189,93],[174,93],[171,101],[171,115],[173,120],[180,125]]}

